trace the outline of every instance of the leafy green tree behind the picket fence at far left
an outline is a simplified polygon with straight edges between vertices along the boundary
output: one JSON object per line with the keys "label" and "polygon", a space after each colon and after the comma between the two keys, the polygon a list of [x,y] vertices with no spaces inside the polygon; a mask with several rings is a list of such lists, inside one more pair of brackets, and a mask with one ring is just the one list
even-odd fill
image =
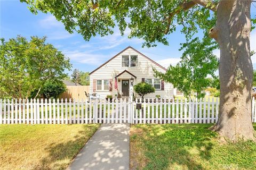
{"label": "leafy green tree behind the picket fence at far left", "polygon": [[70,69],[69,59],[57,48],[45,43],[46,37],[1,39],[0,95],[25,98],[36,91],[37,96],[46,80],[58,81]]}

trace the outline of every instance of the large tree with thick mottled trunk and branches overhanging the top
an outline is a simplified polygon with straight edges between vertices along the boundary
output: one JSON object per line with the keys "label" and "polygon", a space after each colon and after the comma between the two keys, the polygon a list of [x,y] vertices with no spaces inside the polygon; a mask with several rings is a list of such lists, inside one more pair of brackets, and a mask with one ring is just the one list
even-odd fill
{"label": "large tree with thick mottled trunk and branches overhanging the top", "polygon": [[[252,1],[48,1],[21,0],[37,13],[51,12],[70,33],[77,31],[85,40],[113,33],[115,23],[123,34],[145,40],[143,45],[168,44],[167,36],[182,25],[187,44],[202,30],[212,48],[220,48],[220,115],[212,130],[231,140],[253,139],[251,120],[252,61],[250,31]],[[253,20],[255,21],[255,19]],[[210,39],[212,38],[212,40]],[[188,53],[193,53],[193,49]]]}

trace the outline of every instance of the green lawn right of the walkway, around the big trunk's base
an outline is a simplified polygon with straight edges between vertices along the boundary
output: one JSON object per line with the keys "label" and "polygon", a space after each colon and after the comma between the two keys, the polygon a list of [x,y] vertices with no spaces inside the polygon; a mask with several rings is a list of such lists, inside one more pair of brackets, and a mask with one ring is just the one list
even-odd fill
{"label": "green lawn right of the walkway, around the big trunk's base", "polygon": [[256,143],[220,143],[211,125],[132,125],[131,169],[256,169]]}

